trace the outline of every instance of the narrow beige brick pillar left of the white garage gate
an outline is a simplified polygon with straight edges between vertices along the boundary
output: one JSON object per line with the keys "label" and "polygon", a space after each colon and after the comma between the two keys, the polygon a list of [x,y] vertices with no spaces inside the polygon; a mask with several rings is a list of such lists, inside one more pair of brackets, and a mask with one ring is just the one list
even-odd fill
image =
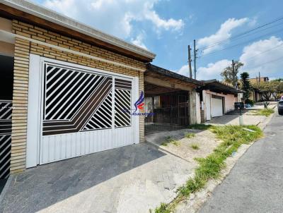
{"label": "narrow beige brick pillar left of the white garage gate", "polygon": [[30,42],[16,38],[13,73],[11,173],[25,169]]}

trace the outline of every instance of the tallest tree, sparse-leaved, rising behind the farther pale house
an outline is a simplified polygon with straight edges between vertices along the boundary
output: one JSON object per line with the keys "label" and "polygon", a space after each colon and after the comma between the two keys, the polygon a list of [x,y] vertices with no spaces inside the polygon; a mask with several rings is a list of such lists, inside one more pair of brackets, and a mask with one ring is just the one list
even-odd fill
{"label": "tallest tree, sparse-leaved, rising behind the farther pale house", "polygon": [[224,78],[226,83],[231,83],[234,87],[238,85],[238,71],[239,68],[243,66],[243,63],[240,61],[234,61],[234,71],[233,71],[233,66],[227,66],[224,68],[224,71],[222,71],[221,76]]}

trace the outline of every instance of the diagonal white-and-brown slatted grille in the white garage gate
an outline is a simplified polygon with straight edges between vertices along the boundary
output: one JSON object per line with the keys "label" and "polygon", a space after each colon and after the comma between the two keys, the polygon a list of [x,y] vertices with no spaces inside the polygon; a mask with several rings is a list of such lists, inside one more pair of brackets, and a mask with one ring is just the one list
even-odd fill
{"label": "diagonal white-and-brown slatted grille in the white garage gate", "polygon": [[112,128],[113,116],[115,128],[131,126],[132,80],[54,63],[44,66],[42,135]]}

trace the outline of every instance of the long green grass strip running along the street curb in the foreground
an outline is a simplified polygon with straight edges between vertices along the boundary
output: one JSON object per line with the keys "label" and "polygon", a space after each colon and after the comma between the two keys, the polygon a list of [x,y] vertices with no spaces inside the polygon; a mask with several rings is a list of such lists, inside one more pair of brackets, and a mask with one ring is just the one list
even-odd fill
{"label": "long green grass strip running along the street curb in the foreground", "polygon": [[[250,132],[243,128],[249,128],[255,132]],[[163,203],[157,207],[155,209],[156,213],[173,212],[179,202],[190,197],[191,193],[204,188],[207,181],[219,178],[221,169],[226,166],[226,158],[231,156],[233,152],[236,152],[238,147],[262,137],[262,130],[257,126],[210,126],[209,130],[216,134],[216,138],[222,140],[221,144],[208,157],[196,159],[199,166],[195,169],[195,177],[190,178],[185,185],[178,189],[178,196],[175,200],[168,204]]]}

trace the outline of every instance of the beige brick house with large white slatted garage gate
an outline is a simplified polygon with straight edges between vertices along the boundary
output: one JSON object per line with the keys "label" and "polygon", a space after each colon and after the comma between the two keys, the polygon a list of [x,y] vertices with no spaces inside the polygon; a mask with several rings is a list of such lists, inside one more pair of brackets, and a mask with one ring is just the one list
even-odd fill
{"label": "beige brick house with large white slatted garage gate", "polygon": [[144,141],[125,111],[155,54],[21,0],[1,1],[0,40],[2,178]]}

